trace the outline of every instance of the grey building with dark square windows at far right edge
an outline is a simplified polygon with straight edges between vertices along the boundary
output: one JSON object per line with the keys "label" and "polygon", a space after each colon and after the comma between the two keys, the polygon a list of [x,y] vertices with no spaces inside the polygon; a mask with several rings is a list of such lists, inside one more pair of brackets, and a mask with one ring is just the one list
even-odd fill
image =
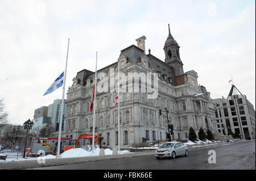
{"label": "grey building with dark square windows at far right edge", "polygon": [[236,131],[245,140],[255,139],[255,110],[253,104],[247,100],[246,95],[232,85],[228,98],[213,99],[216,108],[218,132],[230,135]]}

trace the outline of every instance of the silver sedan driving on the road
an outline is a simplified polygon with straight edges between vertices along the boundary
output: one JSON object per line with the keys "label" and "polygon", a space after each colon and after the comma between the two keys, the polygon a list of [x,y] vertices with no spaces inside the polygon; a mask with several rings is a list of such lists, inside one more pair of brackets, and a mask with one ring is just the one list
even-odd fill
{"label": "silver sedan driving on the road", "polygon": [[185,155],[187,157],[189,153],[188,146],[182,142],[167,142],[155,150],[155,158],[162,157],[176,158],[179,155]]}

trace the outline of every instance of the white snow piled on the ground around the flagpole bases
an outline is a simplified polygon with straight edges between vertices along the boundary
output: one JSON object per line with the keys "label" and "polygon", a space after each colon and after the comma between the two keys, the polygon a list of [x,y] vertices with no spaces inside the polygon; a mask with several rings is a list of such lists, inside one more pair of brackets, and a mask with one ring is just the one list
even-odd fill
{"label": "white snow piled on the ground around the flagpole bases", "polygon": [[[92,154],[92,151],[86,151],[82,148],[75,148],[75,149],[70,149],[67,151],[64,151],[64,153],[62,153],[60,155],[60,158],[76,158],[76,157],[91,157],[91,156],[97,156],[100,153],[100,149],[97,148],[94,150],[94,154]],[[110,149],[105,149],[105,155],[112,155],[113,151]],[[122,150],[122,151],[118,151],[118,154],[127,154],[130,153],[130,151],[128,150]],[[6,161],[4,161],[3,159],[0,159],[0,163],[2,162],[10,162],[10,161],[26,161],[26,160],[34,160],[37,159],[36,157],[26,157],[25,159],[22,158],[23,157],[23,153],[19,152],[18,154],[18,159],[17,159],[17,153],[11,153],[11,152],[5,152],[4,154],[0,154],[0,155],[7,155]],[[40,159],[52,159],[52,158],[56,158],[55,155],[51,155],[48,154],[44,157],[40,157]]]}

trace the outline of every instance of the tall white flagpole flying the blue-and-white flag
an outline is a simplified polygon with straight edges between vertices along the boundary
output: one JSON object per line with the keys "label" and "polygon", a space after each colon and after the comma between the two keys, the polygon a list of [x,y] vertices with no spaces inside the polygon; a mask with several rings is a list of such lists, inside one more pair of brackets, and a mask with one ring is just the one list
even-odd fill
{"label": "tall white flagpole flying the blue-and-white flag", "polygon": [[[69,49],[69,39],[68,39],[68,49]],[[67,75],[67,65],[68,65],[68,50],[67,50],[67,58],[64,72],[64,83],[63,83],[63,91],[62,91],[62,101],[61,101],[61,112],[60,112],[60,121],[59,121],[59,140],[58,140],[58,149],[57,149],[57,157],[60,157],[60,139],[61,139],[61,128],[62,128],[62,119],[63,119],[63,110],[64,110],[64,95],[65,95],[65,83],[66,83],[66,75]]]}

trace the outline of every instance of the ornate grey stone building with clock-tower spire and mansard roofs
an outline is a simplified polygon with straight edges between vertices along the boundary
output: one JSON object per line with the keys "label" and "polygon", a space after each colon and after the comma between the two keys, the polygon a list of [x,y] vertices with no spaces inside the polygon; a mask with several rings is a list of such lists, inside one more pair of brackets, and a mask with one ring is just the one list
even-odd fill
{"label": "ornate grey stone building with clock-tower spire and mansard roofs", "polygon": [[[119,94],[120,109],[120,140],[121,148],[131,147],[146,140],[146,142],[167,140],[167,118],[159,116],[159,108],[166,115],[165,108],[169,111],[169,123],[174,124],[172,140],[188,138],[189,127],[196,134],[202,127],[204,131],[210,129],[217,131],[215,110],[210,93],[204,86],[197,82],[198,75],[195,70],[184,73],[183,62],[180,58],[180,47],[169,33],[164,43],[165,59],[160,60],[145,50],[146,37],[139,37],[137,46],[131,45],[123,50],[116,62],[97,70],[97,79],[102,91],[96,95],[96,134],[100,134],[98,144],[114,148],[118,145],[118,106],[113,108],[117,89],[113,90],[117,79],[112,83],[111,78],[117,76],[119,71],[128,76],[129,73],[138,74],[141,78],[132,79],[132,90]],[[113,71],[112,71],[113,70]],[[152,73],[152,81],[157,82],[148,86],[142,74]],[[154,73],[154,74],[153,74]],[[92,92],[94,87],[95,72],[83,69],[73,78],[72,86],[68,88],[67,110],[65,114],[63,137],[77,139],[80,134],[92,133],[93,112],[90,111]],[[126,78],[122,78],[122,89],[128,90]],[[113,86],[114,85],[114,86]],[[137,86],[136,86],[137,85]],[[156,86],[158,85],[158,87]],[[107,89],[105,88],[107,87]],[[115,86],[116,87],[116,86]],[[124,88],[125,87],[125,88]],[[152,87],[157,87],[155,98],[149,98]],[[146,90],[144,92],[143,90]],[[88,144],[83,140],[82,145]]]}

